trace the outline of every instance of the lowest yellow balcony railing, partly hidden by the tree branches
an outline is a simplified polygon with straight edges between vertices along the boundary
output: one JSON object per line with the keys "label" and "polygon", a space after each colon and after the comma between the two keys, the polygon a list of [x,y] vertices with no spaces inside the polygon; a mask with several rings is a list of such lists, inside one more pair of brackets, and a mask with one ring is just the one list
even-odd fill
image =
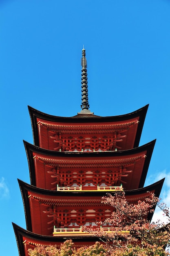
{"label": "lowest yellow balcony railing, partly hidden by the tree branches", "polygon": [[[115,227],[100,227],[100,231],[105,231],[111,233],[112,231],[116,231]],[[118,233],[130,233],[130,231],[122,230]],[[91,235],[88,231],[84,231],[81,227],[70,227],[70,228],[56,228],[54,226],[53,236],[89,236]],[[91,235],[92,236],[92,235]]]}

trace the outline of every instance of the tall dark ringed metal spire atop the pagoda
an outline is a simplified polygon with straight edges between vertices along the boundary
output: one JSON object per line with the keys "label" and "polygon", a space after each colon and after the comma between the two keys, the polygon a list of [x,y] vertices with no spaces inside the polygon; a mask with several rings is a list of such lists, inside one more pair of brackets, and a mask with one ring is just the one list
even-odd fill
{"label": "tall dark ringed metal spire atop the pagoda", "polygon": [[88,85],[87,85],[87,61],[86,61],[86,50],[82,49],[82,105],[81,108],[82,110],[86,109],[88,110],[89,105],[88,105]]}

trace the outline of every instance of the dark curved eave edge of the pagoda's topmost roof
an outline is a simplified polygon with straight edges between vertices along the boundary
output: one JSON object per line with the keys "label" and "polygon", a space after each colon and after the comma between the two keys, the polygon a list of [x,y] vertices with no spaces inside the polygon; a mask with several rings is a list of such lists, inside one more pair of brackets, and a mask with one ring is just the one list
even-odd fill
{"label": "dark curved eave edge of the pagoda's topmost roof", "polygon": [[31,117],[31,125],[32,125],[32,130],[33,130],[34,144],[36,146],[40,146],[37,118],[41,118],[41,119],[44,119],[45,121],[51,121],[51,122],[62,122],[63,124],[64,123],[76,124],[76,123],[80,123],[80,122],[85,124],[85,123],[90,123],[90,122],[93,122],[93,123],[115,122],[116,123],[116,122],[120,122],[120,121],[127,121],[127,120],[135,118],[135,117],[139,117],[139,124],[138,124],[137,134],[136,134],[135,143],[134,143],[134,147],[136,148],[139,146],[141,132],[142,132],[142,128],[144,126],[144,120],[146,117],[146,112],[148,110],[148,106],[149,105],[146,105],[143,108],[140,108],[139,110],[136,110],[129,114],[111,116],[111,117],[96,117],[96,116],[94,116],[94,117],[57,117],[57,116],[48,115],[46,113],[40,112],[40,111],[28,106],[29,114]]}

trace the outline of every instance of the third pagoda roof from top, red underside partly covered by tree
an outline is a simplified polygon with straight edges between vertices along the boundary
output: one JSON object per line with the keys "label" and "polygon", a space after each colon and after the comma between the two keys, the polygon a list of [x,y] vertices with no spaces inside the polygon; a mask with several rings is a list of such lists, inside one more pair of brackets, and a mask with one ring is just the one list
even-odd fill
{"label": "third pagoda roof from top, red underside partly covered by tree", "polygon": [[[51,191],[26,184],[21,180],[18,182],[24,203],[26,227],[37,234],[51,235],[49,224],[53,222],[53,219],[49,222],[51,220],[49,217],[52,217],[47,215],[49,208],[55,207],[55,213],[57,209],[64,212],[64,210],[82,209],[83,207],[85,209],[104,209],[105,207],[110,211],[113,209],[101,203],[102,196],[106,195],[103,191]],[[142,201],[149,196],[148,191],[159,197],[163,182],[164,179],[141,189],[126,191],[126,198],[130,203],[137,203],[138,200]],[[115,192],[110,192],[110,194],[114,195]],[[153,213],[148,213],[147,218],[151,220],[152,215]]]}

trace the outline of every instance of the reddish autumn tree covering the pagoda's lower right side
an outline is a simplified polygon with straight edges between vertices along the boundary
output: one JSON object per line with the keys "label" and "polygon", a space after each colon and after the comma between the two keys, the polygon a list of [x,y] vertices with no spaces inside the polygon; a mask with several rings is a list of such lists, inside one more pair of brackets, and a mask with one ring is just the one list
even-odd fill
{"label": "reddish autumn tree covering the pagoda's lower right side", "polygon": [[170,217],[170,210],[153,193],[148,192],[146,199],[139,200],[137,204],[128,203],[124,192],[117,192],[114,196],[108,194],[102,198],[102,202],[113,207],[113,213],[110,218],[98,224],[110,223],[114,229],[107,232],[97,227],[94,230],[92,227],[88,231],[106,244],[108,254],[114,256],[168,254],[165,252],[166,245],[170,243],[168,225],[160,221],[150,223],[147,215],[148,212],[154,211],[156,204],[167,217]]}

